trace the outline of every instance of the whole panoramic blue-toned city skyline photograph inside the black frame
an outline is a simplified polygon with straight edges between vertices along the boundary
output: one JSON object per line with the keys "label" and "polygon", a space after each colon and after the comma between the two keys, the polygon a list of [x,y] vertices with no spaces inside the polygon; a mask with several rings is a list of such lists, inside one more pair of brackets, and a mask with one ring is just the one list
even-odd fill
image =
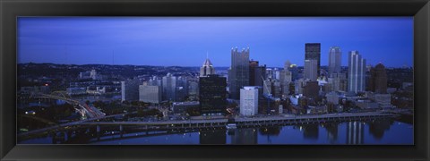
{"label": "whole panoramic blue-toned city skyline photograph inside the black frame", "polygon": [[17,144],[414,145],[413,17],[18,17]]}

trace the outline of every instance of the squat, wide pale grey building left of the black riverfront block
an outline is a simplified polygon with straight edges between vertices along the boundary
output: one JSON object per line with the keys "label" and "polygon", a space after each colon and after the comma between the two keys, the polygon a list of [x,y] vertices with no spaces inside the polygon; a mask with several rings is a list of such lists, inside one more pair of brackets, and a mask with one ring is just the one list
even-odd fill
{"label": "squat, wide pale grey building left of the black riverfront block", "polygon": [[159,104],[161,102],[160,86],[139,86],[139,101]]}

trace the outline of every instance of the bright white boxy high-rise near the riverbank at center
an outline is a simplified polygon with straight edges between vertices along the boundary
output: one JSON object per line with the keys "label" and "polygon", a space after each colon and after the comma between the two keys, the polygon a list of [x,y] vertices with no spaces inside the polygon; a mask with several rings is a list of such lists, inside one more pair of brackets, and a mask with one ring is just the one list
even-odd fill
{"label": "bright white boxy high-rise near the riverbank at center", "polygon": [[258,88],[245,86],[240,89],[240,114],[254,115],[258,113]]}

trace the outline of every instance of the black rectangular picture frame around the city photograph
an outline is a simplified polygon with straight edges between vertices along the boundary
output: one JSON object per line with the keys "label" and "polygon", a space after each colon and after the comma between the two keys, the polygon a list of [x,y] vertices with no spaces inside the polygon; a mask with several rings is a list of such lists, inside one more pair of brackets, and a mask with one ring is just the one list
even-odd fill
{"label": "black rectangular picture frame around the city photograph", "polygon": [[[17,16],[413,16],[414,146],[16,145]],[[0,0],[1,160],[428,160],[428,0]]]}

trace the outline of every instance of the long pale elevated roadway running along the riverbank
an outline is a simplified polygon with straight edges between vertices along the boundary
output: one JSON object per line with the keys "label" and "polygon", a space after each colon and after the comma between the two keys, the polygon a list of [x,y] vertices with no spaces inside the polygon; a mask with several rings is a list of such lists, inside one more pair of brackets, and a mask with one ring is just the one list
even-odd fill
{"label": "long pale elevated roadway running along the riverbank", "polygon": [[[116,114],[122,115],[122,114]],[[189,131],[198,129],[226,128],[228,119],[201,119],[201,120],[179,120],[179,121],[157,121],[157,122],[103,122],[104,118],[116,115],[91,118],[72,123],[59,124],[53,127],[28,131],[21,133],[19,137],[30,137],[41,133],[55,131],[73,131],[79,128],[90,128],[98,133],[105,131],[117,131],[123,133],[127,130],[139,131]],[[289,124],[305,123],[330,123],[330,122],[350,122],[350,121],[369,121],[381,118],[393,118],[399,114],[387,114],[381,112],[368,113],[342,113],[342,114],[317,114],[317,115],[271,115],[264,117],[240,117],[235,122],[238,128],[242,127],[261,127]]]}

